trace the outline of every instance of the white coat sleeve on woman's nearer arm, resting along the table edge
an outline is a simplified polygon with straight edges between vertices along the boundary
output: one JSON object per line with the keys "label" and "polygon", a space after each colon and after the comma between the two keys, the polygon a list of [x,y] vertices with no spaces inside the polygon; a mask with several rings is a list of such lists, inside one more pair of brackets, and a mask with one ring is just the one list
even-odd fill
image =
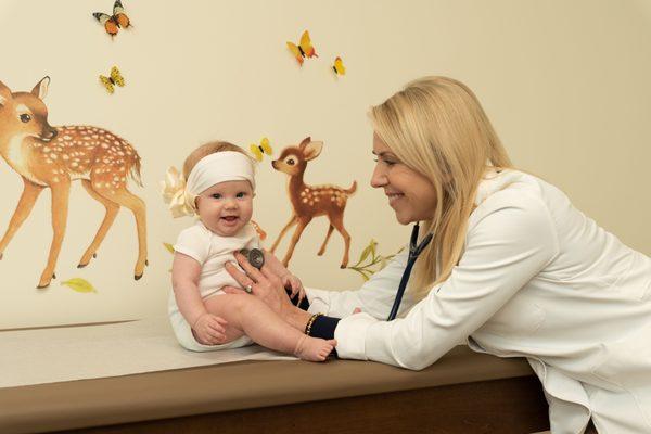
{"label": "white coat sleeve on woman's nearer arm, resting along the table edge", "polygon": [[386,322],[361,312],[342,319],[334,334],[339,357],[421,370],[497,312],[558,254],[545,204],[516,194],[487,200],[450,277],[405,318]]}

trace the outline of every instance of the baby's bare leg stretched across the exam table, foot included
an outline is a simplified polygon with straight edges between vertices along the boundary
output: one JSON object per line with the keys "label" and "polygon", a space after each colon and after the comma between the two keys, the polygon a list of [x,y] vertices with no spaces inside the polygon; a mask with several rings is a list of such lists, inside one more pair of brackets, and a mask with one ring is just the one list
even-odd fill
{"label": "baby's bare leg stretched across the exam table, foot included", "polygon": [[242,330],[267,348],[294,354],[304,360],[323,361],[336,345],[306,336],[288,324],[264,302],[247,294],[225,294],[205,301],[209,312],[229,322],[229,328]]}

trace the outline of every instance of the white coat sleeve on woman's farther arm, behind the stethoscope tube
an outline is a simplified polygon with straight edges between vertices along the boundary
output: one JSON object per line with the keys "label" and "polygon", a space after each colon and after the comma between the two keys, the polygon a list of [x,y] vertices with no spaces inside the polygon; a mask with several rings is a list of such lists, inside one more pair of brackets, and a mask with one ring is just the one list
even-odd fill
{"label": "white coat sleeve on woman's farther arm, behind the stethoscope tube", "polygon": [[[353,314],[356,307],[372,318],[386,319],[407,266],[407,248],[394,256],[382,270],[375,272],[360,289],[354,291],[326,291],[306,289],[310,312],[322,312],[330,317],[343,318]],[[414,304],[406,293],[398,315]]]}

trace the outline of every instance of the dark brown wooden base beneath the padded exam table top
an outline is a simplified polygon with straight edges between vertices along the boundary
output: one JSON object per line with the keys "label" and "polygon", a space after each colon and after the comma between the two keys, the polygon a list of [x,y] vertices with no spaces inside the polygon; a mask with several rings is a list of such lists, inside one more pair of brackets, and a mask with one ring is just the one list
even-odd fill
{"label": "dark brown wooden base beneath the padded exam table top", "polygon": [[549,430],[533,375],[100,426],[75,434],[525,434]]}

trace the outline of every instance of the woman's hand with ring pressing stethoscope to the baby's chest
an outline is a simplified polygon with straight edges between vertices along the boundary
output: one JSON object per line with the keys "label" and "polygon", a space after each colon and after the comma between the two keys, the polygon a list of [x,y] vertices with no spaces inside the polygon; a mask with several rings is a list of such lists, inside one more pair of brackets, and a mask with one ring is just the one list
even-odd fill
{"label": "woman's hand with ring pressing stethoscope to the baby's chest", "polygon": [[[240,271],[231,263],[226,263],[225,268],[242,288],[251,286],[254,296],[259,297],[267,306],[281,316],[293,307],[281,279],[269,267],[265,265],[261,270],[258,270],[248,264],[244,255],[239,252],[235,253],[235,259],[238,259],[238,263],[246,273]],[[233,286],[225,286],[222,290],[228,294],[241,294],[243,291],[240,288]]]}

